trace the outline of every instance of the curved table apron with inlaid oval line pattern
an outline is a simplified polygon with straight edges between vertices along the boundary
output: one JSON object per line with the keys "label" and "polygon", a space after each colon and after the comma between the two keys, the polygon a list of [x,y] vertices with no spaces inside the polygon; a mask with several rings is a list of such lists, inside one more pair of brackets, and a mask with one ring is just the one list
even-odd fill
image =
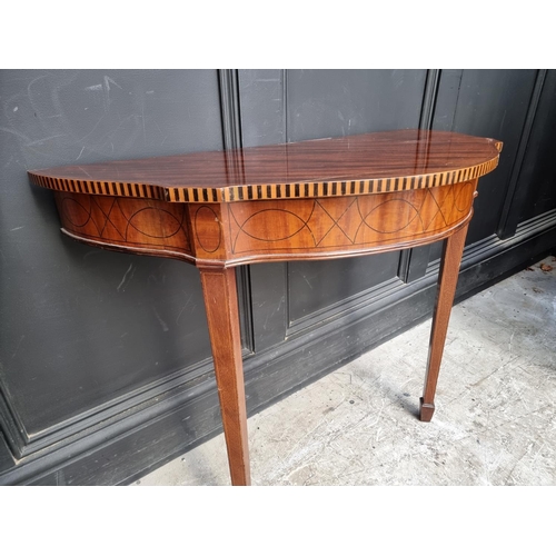
{"label": "curved table apron with inlaid oval line pattern", "polygon": [[106,249],[199,267],[354,257],[444,239],[473,215],[477,179],[335,198],[167,203],[57,191],[62,231]]}

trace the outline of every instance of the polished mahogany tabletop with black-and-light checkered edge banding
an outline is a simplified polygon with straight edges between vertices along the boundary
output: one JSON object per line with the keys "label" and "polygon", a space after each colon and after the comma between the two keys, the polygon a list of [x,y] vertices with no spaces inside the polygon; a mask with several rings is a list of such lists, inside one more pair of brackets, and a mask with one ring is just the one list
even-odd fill
{"label": "polished mahogany tabletop with black-and-light checkered edge banding", "polygon": [[500,150],[494,139],[398,130],[67,166],[29,177],[57,191],[169,202],[341,197],[476,179],[496,168]]}

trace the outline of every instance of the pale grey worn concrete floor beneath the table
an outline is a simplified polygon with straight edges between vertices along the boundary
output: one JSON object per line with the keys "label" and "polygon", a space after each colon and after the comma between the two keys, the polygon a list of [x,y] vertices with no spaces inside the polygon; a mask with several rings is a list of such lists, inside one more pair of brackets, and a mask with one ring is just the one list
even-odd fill
{"label": "pale grey worn concrete floor beneath the table", "polygon": [[[556,260],[542,262],[454,308],[431,423],[427,321],[251,417],[254,485],[556,485]],[[224,436],[135,485],[229,485]]]}

